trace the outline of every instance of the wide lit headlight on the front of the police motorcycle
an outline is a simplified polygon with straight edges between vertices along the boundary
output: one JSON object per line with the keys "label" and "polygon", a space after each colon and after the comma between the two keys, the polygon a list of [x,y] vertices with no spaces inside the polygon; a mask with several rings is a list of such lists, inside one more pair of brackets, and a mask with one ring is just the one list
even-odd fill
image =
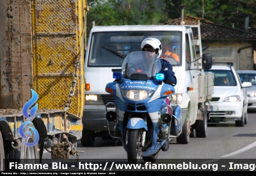
{"label": "wide lit headlight on the front of the police motorcycle", "polygon": [[144,100],[153,95],[154,90],[122,90],[124,97],[130,100]]}

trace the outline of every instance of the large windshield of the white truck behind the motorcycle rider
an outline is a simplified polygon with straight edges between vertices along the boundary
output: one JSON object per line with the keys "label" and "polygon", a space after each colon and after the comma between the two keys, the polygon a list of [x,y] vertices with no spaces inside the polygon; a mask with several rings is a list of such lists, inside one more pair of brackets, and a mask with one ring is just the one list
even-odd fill
{"label": "large windshield of the white truck behind the motorcycle rider", "polygon": [[[164,55],[173,66],[181,63],[181,34],[173,31],[108,31],[92,33],[90,51],[88,51],[88,67],[122,67],[124,58],[130,52],[141,51],[141,42],[148,37],[160,41],[168,38],[169,56]],[[162,44],[163,45],[163,44]],[[174,54],[171,54],[174,53]],[[180,60],[177,60],[177,57]]]}

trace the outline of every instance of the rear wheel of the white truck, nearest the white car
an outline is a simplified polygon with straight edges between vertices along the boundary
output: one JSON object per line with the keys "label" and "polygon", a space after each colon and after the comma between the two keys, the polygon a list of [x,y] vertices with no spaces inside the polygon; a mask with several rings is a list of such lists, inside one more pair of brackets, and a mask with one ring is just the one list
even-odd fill
{"label": "rear wheel of the white truck, nearest the white car", "polygon": [[203,120],[196,120],[195,124],[196,138],[206,138],[207,136],[207,115],[204,108]]}

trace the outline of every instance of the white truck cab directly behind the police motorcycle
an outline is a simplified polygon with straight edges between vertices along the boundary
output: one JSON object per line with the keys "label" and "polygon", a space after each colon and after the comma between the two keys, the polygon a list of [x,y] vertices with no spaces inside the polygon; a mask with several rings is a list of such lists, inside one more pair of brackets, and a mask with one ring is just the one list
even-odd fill
{"label": "white truck cab directly behind the police motorcycle", "polygon": [[[171,41],[173,52],[180,58],[180,61],[166,58],[172,64],[177,77],[176,93],[170,97],[170,100],[171,104],[180,105],[182,125],[186,123],[184,130],[182,129],[184,135],[178,141],[189,142],[190,127],[195,124],[198,116],[198,101],[200,101],[198,99],[200,94],[198,75],[202,74],[202,69],[199,68],[202,65],[198,65],[196,58],[192,29],[188,26],[177,25],[95,26],[88,38],[84,61],[86,92],[81,140],[83,146],[93,146],[95,137],[104,139],[113,134],[115,136],[117,132],[115,122],[108,124],[105,117],[106,103],[115,103],[115,99],[105,91],[105,86],[115,81],[113,71],[121,69],[125,56],[130,52],[140,51],[141,42],[147,37],[159,40],[168,38]],[[115,106],[108,109],[115,111]],[[109,135],[108,128],[113,134]],[[178,136],[171,137],[177,138]]]}

